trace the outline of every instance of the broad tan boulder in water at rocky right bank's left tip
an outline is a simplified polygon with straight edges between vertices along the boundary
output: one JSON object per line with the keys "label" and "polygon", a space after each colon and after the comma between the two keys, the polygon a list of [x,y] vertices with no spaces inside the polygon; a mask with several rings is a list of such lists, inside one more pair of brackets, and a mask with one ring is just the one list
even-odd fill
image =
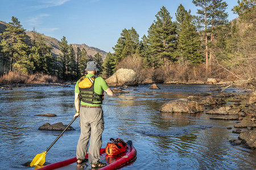
{"label": "broad tan boulder in water at rocky right bank's left tip", "polygon": [[159,111],[171,113],[197,113],[203,112],[203,109],[201,108],[200,104],[196,101],[191,101],[188,99],[177,99],[163,104],[160,107]]}

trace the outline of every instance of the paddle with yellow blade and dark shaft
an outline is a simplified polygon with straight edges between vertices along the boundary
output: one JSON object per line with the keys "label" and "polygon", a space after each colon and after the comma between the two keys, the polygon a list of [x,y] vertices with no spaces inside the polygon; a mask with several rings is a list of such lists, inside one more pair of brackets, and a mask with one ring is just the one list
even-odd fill
{"label": "paddle with yellow blade and dark shaft", "polygon": [[34,165],[43,165],[44,162],[46,162],[46,153],[48,152],[48,150],[56,143],[56,141],[61,137],[61,135],[63,135],[63,133],[69,128],[69,126],[73,123],[73,121],[76,120],[77,117],[73,118],[73,120],[68,124],[68,126],[63,130],[63,132],[61,132],[61,134],[59,135],[59,137],[57,137],[55,139],[54,142],[52,142],[52,144],[47,148],[46,151],[44,151],[41,154],[38,154],[35,156],[35,158],[32,160],[32,162],[30,163],[30,167],[33,167]]}

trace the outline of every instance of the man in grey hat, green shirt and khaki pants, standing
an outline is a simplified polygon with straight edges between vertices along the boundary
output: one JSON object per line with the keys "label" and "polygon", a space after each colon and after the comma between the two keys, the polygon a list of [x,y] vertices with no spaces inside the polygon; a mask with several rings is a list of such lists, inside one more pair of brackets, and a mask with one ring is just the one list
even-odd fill
{"label": "man in grey hat, green shirt and khaki pants, standing", "polygon": [[89,61],[85,71],[87,75],[82,76],[75,86],[76,114],[74,118],[80,116],[81,128],[76,150],[77,165],[81,165],[87,161],[85,155],[90,139],[88,151],[89,164],[93,168],[105,167],[106,163],[99,161],[100,148],[102,146],[101,135],[104,130],[101,104],[104,99],[104,91],[109,96],[113,96],[113,91],[103,78],[96,75],[98,71],[97,62]]}

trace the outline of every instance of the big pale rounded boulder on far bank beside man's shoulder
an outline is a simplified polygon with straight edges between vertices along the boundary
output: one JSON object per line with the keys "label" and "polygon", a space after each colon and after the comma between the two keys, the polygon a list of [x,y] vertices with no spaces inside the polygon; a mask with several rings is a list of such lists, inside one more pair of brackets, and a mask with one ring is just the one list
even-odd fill
{"label": "big pale rounded boulder on far bank beside man's shoulder", "polygon": [[139,79],[131,69],[119,69],[110,78],[106,79],[109,86],[138,86]]}

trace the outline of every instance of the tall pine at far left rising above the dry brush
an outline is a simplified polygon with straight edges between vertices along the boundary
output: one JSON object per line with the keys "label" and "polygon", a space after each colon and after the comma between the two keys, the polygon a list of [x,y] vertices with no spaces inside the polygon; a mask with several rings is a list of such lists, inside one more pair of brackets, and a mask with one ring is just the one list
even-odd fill
{"label": "tall pine at far left rising above the dry brush", "polygon": [[14,16],[11,18],[11,22],[7,24],[6,31],[1,33],[1,37],[3,52],[7,58],[10,58],[10,71],[13,71],[15,62],[17,69],[27,72],[26,67],[29,67],[31,63],[27,59],[26,33],[17,18]]}

